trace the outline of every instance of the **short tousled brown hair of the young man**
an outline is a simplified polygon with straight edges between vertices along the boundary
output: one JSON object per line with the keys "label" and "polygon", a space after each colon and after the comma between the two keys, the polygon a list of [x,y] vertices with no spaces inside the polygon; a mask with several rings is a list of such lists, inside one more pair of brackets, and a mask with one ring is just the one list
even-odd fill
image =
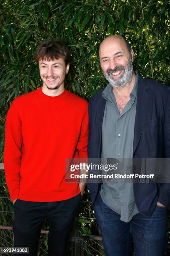
{"label": "short tousled brown hair of the young man", "polygon": [[41,59],[50,61],[58,58],[64,59],[65,65],[70,62],[70,52],[62,41],[45,40],[40,43],[35,51],[35,60],[37,62]]}

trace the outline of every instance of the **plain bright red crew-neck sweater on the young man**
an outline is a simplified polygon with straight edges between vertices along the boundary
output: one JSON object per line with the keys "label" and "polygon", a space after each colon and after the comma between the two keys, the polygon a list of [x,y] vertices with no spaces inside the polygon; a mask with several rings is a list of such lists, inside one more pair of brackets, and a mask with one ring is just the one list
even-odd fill
{"label": "plain bright red crew-neck sweater on the young man", "polygon": [[11,200],[51,202],[80,193],[65,182],[65,159],[87,158],[87,101],[41,88],[17,97],[6,118],[4,166]]}

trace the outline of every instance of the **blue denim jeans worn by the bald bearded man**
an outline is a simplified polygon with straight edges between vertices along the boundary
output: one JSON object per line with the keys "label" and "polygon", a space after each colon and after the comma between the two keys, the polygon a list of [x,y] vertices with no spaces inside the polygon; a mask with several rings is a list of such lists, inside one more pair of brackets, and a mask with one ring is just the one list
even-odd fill
{"label": "blue denim jeans worn by the bald bearded man", "polygon": [[135,256],[163,256],[167,246],[166,207],[157,206],[150,218],[136,214],[128,223],[105,205],[100,197],[94,204],[106,256],[130,256],[131,236]]}

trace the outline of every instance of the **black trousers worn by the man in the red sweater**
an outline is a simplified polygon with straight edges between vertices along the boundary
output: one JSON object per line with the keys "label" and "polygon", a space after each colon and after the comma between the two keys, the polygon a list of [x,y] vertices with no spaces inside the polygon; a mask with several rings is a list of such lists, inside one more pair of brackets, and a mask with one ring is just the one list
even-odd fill
{"label": "black trousers worn by the man in the red sweater", "polygon": [[17,199],[14,204],[14,247],[29,247],[36,256],[42,222],[48,218],[48,256],[65,256],[81,194],[57,202],[30,202]]}

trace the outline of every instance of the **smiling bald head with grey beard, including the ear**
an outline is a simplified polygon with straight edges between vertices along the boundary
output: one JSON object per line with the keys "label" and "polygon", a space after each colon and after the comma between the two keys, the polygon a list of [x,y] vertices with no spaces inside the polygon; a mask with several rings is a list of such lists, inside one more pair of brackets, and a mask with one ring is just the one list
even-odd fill
{"label": "smiling bald head with grey beard, including the ear", "polygon": [[120,36],[109,36],[100,45],[100,64],[112,87],[124,87],[133,77],[133,50]]}

